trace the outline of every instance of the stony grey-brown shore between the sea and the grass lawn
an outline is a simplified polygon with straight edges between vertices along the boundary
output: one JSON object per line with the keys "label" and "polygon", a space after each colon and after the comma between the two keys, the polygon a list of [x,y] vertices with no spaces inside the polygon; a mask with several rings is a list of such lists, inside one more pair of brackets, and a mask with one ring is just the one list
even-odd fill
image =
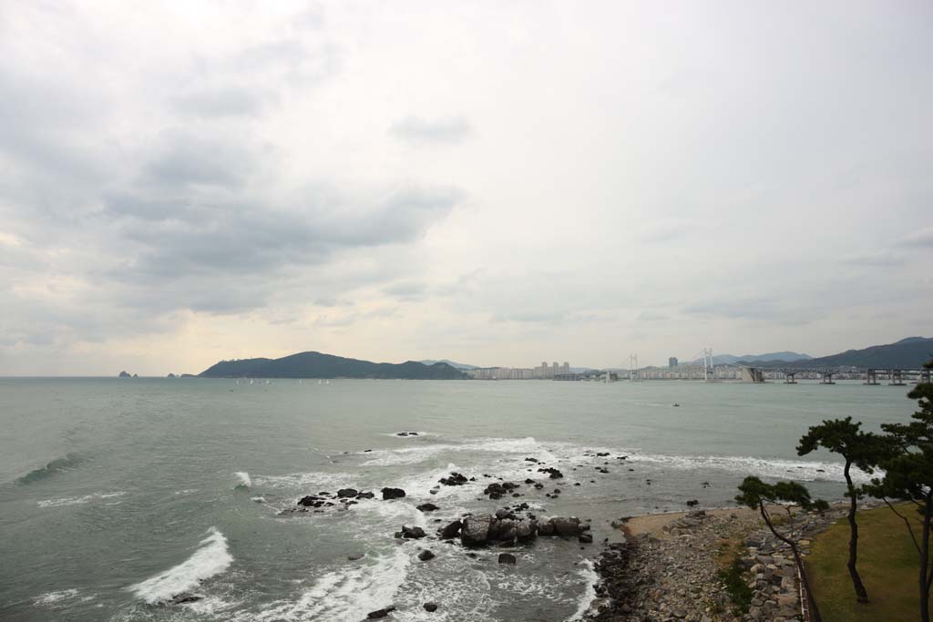
{"label": "stony grey-brown shore between the sea and the grass lawn", "polygon": [[[815,535],[845,516],[836,505],[825,513],[795,513],[801,556]],[[782,513],[783,514],[783,513]],[[667,515],[655,528],[627,532],[596,561],[593,622],[790,622],[803,620],[801,585],[790,547],[759,515],[746,508],[693,510]],[[644,517],[651,518],[651,517]],[[634,519],[637,520],[637,519]],[[625,520],[624,522],[628,522]],[[660,529],[658,528],[658,525]],[[786,535],[787,524],[777,527]],[[731,599],[728,574],[742,582],[745,605]],[[742,589],[741,586],[739,589]]]}

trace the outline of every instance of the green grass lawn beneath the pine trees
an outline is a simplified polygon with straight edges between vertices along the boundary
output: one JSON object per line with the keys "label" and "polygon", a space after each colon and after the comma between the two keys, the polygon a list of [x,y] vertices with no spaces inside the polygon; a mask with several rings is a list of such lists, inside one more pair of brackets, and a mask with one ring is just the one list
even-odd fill
{"label": "green grass lawn beneath the pine trees", "polygon": [[[911,505],[912,507],[912,505]],[[898,511],[908,518],[911,507]],[[825,622],[914,622],[919,560],[903,520],[887,507],[859,512],[858,574],[869,592],[868,604],[856,602],[856,592],[845,568],[849,556],[849,523],[842,518],[817,536],[805,563],[810,583]],[[917,538],[920,532],[914,528]]]}

